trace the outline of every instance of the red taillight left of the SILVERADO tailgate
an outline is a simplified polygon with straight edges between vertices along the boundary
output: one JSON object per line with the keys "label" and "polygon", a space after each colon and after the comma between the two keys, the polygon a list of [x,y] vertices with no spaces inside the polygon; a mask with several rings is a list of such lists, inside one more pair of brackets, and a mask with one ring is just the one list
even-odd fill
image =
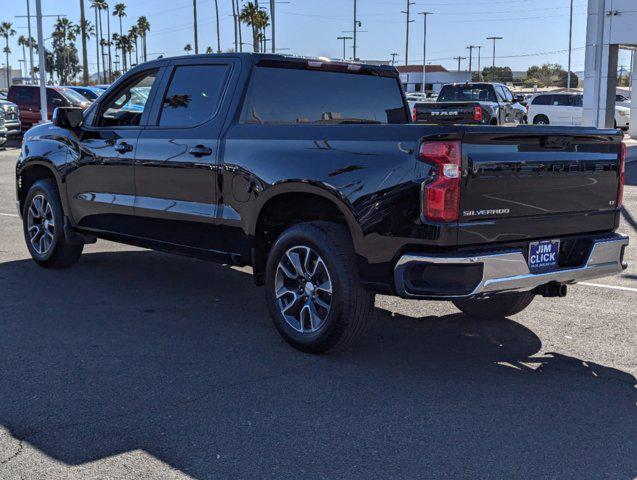
{"label": "red taillight left of the SILVERADO tailgate", "polygon": [[420,159],[434,166],[433,180],[423,183],[422,213],[433,222],[458,220],[460,201],[460,141],[425,142]]}

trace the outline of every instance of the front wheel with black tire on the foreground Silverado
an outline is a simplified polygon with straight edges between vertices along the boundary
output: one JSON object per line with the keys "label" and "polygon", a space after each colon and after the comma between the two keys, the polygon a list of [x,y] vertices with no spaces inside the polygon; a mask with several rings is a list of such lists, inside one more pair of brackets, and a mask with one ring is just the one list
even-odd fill
{"label": "front wheel with black tire on the foreground Silverado", "polygon": [[[30,213],[30,209],[33,209],[33,212],[37,212],[38,210],[33,203],[36,197],[43,198],[50,207],[50,209],[47,208],[47,211],[50,212],[48,215],[50,215],[50,218],[53,220],[52,228],[48,223],[44,224],[37,220],[39,215]],[[34,219],[34,217],[36,218]],[[30,221],[33,222],[32,228],[39,227],[40,231],[49,232],[47,235],[48,243],[44,246],[42,246],[37,238],[34,238],[32,242],[32,237],[29,233]],[[47,222],[50,223],[49,220],[47,220]],[[84,244],[71,243],[66,239],[66,235],[64,234],[64,212],[62,211],[57,186],[53,180],[38,180],[29,189],[22,208],[22,226],[29,253],[33,260],[41,267],[67,268],[77,262],[80,255],[82,255]],[[39,238],[42,239],[42,236]],[[38,250],[38,248],[40,250]]]}

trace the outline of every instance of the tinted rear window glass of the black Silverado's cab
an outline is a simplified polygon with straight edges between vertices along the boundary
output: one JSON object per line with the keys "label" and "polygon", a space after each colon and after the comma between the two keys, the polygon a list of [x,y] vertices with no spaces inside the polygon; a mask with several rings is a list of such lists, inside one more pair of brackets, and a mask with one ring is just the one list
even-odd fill
{"label": "tinted rear window glass of the black Silverado's cab", "polygon": [[255,67],[241,115],[250,124],[407,123],[393,77]]}

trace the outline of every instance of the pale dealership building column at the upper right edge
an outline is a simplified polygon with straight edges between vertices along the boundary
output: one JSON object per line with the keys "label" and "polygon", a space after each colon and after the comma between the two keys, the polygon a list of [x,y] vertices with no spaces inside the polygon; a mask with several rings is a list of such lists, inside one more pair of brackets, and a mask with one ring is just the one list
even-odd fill
{"label": "pale dealership building column at the upper right edge", "polygon": [[[637,79],[637,0],[588,0],[584,125],[612,128],[615,118],[618,53],[632,51],[632,78]],[[631,95],[632,119],[637,119],[637,95]],[[637,124],[630,135],[637,138]]]}

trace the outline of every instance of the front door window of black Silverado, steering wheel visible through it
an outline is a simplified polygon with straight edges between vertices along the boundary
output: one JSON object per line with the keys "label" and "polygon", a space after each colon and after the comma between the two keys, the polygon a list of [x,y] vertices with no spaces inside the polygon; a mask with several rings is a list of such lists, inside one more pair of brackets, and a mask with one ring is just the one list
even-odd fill
{"label": "front door window of black Silverado, steering wheel visible through it", "polygon": [[99,127],[136,127],[139,125],[157,70],[135,77],[120,87],[105,105],[100,106]]}

